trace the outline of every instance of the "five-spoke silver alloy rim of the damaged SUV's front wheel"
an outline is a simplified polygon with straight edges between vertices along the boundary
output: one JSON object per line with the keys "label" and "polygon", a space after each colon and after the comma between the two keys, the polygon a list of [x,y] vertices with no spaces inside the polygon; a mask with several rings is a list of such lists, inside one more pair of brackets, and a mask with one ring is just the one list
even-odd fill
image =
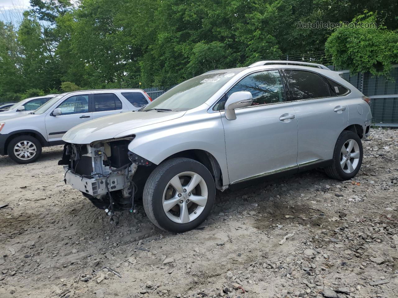
{"label": "five-spoke silver alloy rim of the damaged SUV's front wheel", "polygon": [[182,172],[174,176],[163,193],[163,210],[175,223],[190,223],[206,207],[208,189],[197,173]]}

